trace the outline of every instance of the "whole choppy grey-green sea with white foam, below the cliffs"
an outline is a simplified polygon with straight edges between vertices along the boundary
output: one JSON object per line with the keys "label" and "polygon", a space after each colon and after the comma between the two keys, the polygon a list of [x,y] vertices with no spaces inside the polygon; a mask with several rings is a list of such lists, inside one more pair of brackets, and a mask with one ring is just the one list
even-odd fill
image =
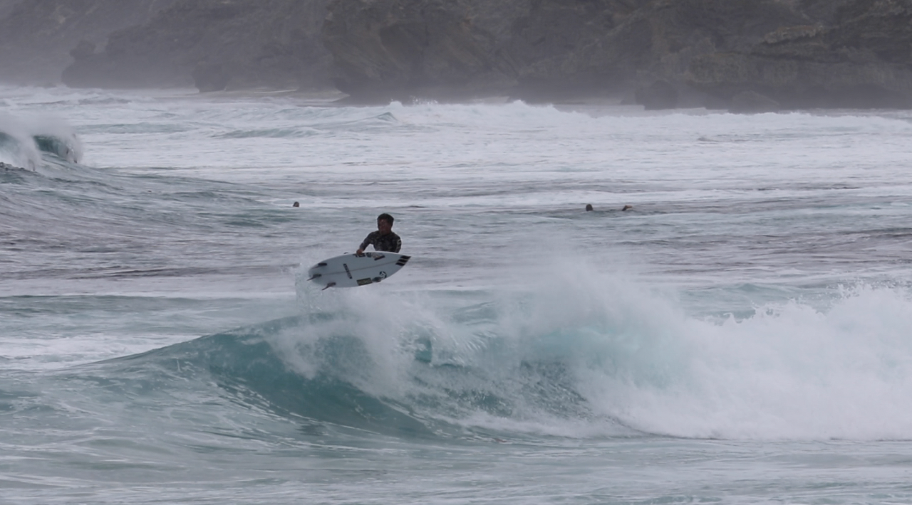
{"label": "whole choppy grey-green sea with white foam, below the cliffs", "polygon": [[0,87],[0,503],[912,503],[912,112],[331,98]]}

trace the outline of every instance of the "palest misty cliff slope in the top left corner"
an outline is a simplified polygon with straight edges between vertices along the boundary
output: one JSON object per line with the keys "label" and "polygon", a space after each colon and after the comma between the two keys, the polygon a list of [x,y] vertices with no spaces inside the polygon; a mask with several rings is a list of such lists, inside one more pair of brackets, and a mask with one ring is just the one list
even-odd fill
{"label": "palest misty cliff slope in the top left corner", "polygon": [[0,80],[57,83],[80,40],[103,45],[175,0],[0,0]]}

